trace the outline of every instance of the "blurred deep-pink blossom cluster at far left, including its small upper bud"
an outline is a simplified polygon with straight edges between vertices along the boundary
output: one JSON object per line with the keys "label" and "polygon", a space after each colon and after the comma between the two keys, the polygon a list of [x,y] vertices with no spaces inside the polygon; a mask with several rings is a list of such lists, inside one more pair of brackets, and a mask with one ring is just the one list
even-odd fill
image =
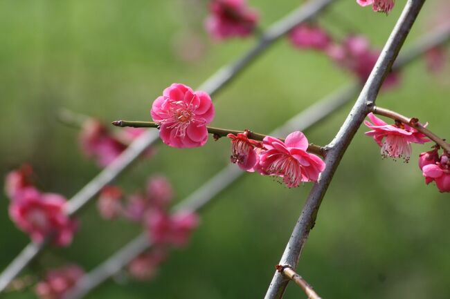
{"label": "blurred deep-pink blossom cluster at far left, including its small upper bud", "polygon": [[60,194],[40,192],[33,185],[32,174],[32,168],[24,165],[6,176],[10,218],[34,242],[51,237],[57,246],[68,246],[77,224],[64,213],[67,200]]}

